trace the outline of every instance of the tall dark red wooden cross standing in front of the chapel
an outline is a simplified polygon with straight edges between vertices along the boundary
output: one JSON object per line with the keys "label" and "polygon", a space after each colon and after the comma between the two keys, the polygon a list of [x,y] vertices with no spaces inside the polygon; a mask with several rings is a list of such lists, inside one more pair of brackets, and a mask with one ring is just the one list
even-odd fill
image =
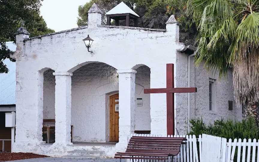
{"label": "tall dark red wooden cross standing in front of the chapel", "polygon": [[197,88],[174,88],[174,64],[166,64],[166,88],[144,89],[145,94],[166,93],[167,135],[174,135],[174,93],[189,92],[197,92]]}

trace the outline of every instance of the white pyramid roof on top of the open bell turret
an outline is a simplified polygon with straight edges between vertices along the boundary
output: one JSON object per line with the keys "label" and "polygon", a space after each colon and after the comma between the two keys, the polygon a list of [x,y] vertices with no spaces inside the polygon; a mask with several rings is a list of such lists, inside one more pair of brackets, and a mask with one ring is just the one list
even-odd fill
{"label": "white pyramid roof on top of the open bell turret", "polygon": [[131,10],[124,2],[121,2],[120,4],[112,8],[112,10],[109,10],[105,15],[115,15],[124,13],[130,13],[132,15],[139,17],[138,14]]}

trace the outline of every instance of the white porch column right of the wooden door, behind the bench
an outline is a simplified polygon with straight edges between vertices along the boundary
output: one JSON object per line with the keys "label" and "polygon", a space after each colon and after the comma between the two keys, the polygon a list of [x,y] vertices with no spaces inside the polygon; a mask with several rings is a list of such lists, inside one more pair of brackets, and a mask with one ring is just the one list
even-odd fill
{"label": "white porch column right of the wooden door, behind the bench", "polygon": [[135,130],[135,74],[132,69],[117,70],[119,74],[119,142]]}

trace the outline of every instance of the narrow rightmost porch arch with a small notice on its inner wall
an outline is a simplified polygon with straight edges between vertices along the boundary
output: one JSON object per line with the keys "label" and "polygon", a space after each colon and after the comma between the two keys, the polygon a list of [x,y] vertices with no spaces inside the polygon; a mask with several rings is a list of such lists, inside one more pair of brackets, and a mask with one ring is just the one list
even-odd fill
{"label": "narrow rightmost porch arch with a small notice on its inner wall", "polygon": [[150,94],[144,94],[145,88],[150,88],[150,68],[146,65],[136,65],[135,77],[135,133],[150,133]]}

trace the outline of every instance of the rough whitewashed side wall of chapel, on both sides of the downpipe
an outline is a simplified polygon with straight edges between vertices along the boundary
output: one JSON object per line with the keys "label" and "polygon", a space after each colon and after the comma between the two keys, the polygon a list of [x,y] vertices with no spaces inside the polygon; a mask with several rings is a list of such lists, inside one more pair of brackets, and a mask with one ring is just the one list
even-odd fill
{"label": "rough whitewashed side wall of chapel, on both sides of the downpipe", "polygon": [[[189,119],[202,118],[206,124],[214,120],[241,120],[242,108],[235,103],[233,94],[232,72],[228,71],[227,78],[219,80],[218,75],[207,72],[203,64],[198,68],[190,58],[190,87],[197,87],[196,93],[190,93]],[[188,54],[177,53],[176,87],[188,87]],[[209,78],[216,80],[215,110],[209,110]],[[228,100],[233,101],[233,110],[228,110]],[[178,134],[188,131],[188,98],[187,93],[176,94],[176,129]]]}

